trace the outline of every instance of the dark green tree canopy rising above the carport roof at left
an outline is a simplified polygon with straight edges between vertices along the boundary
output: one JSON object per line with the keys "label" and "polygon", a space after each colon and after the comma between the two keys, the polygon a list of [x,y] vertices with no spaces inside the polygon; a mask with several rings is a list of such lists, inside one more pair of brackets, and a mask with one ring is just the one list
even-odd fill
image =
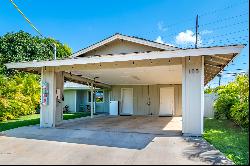
{"label": "dark green tree canopy rising above the carport roof at left", "polygon": [[56,44],[57,57],[71,55],[71,48],[52,38],[41,38],[19,31],[0,36],[0,74],[6,74],[5,63],[53,59],[53,47]]}

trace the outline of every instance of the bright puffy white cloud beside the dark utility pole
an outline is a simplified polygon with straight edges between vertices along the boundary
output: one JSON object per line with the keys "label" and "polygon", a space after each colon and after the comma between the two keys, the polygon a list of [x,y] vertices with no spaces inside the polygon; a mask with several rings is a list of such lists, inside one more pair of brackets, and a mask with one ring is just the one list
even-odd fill
{"label": "bright puffy white cloud beside the dark utility pole", "polygon": [[[180,32],[175,37],[176,44],[179,45],[188,45],[188,44],[195,44],[196,37],[193,31],[186,30],[186,32]],[[198,45],[200,46],[202,43],[201,36],[198,36]]]}

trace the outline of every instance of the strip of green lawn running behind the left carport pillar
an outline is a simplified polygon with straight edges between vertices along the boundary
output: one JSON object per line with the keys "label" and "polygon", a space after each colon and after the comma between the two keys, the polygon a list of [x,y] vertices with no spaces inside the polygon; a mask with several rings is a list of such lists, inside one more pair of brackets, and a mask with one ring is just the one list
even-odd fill
{"label": "strip of green lawn running behind the left carport pillar", "polygon": [[[63,114],[63,119],[64,120],[75,119],[75,118],[85,117],[88,115],[90,115],[90,113],[86,113],[86,112],[68,113],[68,114]],[[0,122],[0,132],[9,130],[9,129],[14,129],[14,128],[21,127],[21,126],[29,126],[29,125],[39,124],[39,123],[40,123],[39,114],[22,116],[15,120],[8,120],[5,122]]]}

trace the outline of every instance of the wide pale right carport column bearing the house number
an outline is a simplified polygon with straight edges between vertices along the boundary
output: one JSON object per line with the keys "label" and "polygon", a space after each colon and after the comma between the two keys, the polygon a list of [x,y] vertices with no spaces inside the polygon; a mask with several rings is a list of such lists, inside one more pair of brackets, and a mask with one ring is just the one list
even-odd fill
{"label": "wide pale right carport column bearing the house number", "polygon": [[182,61],[182,133],[201,136],[204,114],[204,57]]}

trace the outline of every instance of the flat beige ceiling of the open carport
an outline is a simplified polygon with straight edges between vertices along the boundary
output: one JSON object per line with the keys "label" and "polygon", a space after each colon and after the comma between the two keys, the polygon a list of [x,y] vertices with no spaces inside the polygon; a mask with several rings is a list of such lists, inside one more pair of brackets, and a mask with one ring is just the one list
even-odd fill
{"label": "flat beige ceiling of the open carport", "polygon": [[72,72],[109,85],[181,84],[182,66],[150,66]]}

